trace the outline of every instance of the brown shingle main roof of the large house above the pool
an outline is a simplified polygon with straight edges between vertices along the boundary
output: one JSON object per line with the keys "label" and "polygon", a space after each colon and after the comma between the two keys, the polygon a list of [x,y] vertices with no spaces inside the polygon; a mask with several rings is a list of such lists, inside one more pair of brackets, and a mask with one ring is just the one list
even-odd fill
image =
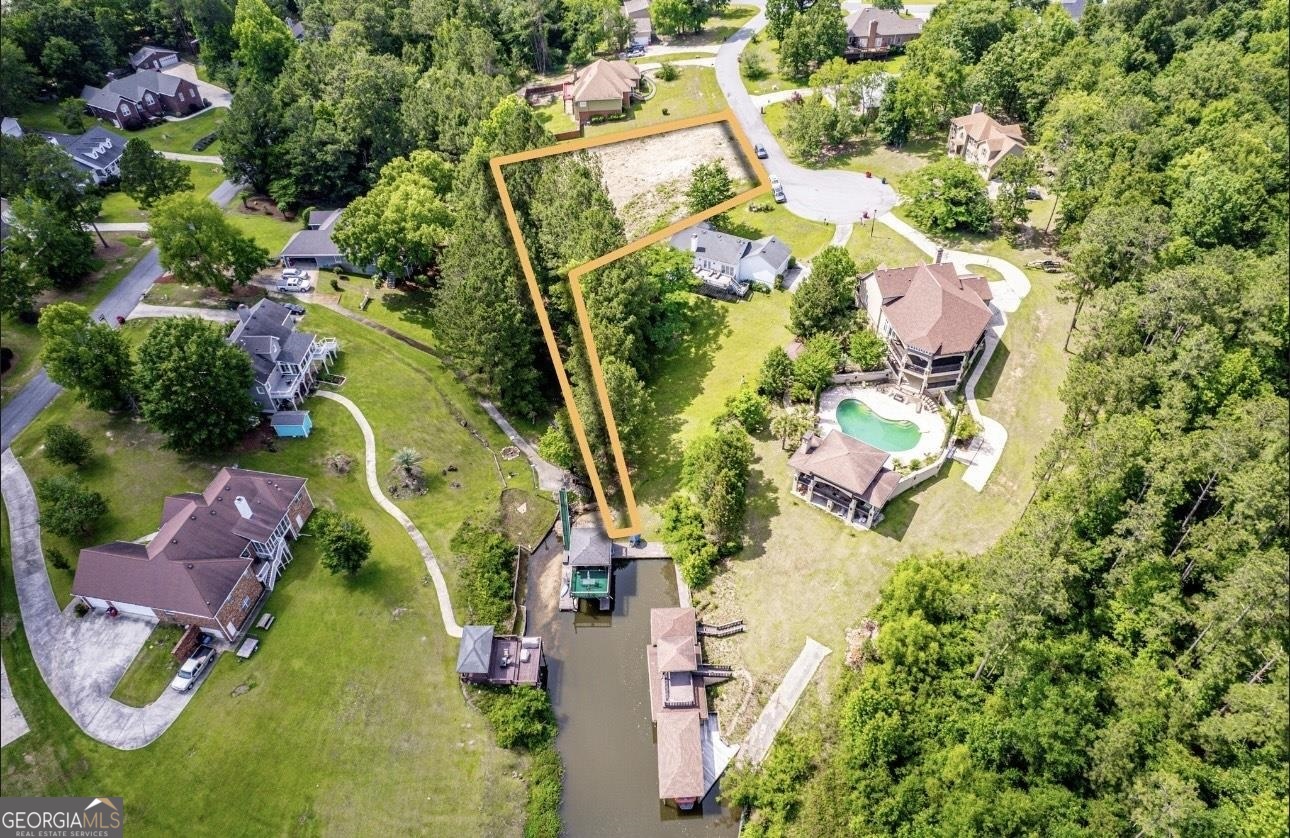
{"label": "brown shingle main roof of the large house above the pool", "polygon": [[882,313],[907,347],[930,355],[968,352],[989,325],[989,282],[958,276],[953,264],[880,269],[873,278]]}

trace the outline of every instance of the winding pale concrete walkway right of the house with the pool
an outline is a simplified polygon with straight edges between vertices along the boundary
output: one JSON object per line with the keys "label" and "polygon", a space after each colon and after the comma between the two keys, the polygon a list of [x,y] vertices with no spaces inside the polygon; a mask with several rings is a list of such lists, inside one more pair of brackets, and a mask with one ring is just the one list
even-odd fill
{"label": "winding pale concrete walkway right of the house with the pool", "polygon": [[[918,250],[922,250],[930,258],[937,258],[937,251],[940,250],[940,246],[921,231],[911,227],[891,213],[878,215],[878,222],[912,241]],[[986,333],[986,347],[982,349],[980,358],[977,361],[977,366],[964,385],[964,402],[973,418],[980,424],[982,432],[966,451],[957,451],[955,454],[956,460],[968,465],[964,471],[964,482],[980,491],[986,487],[989,476],[995,472],[995,467],[998,465],[998,459],[1004,455],[1004,446],[1007,445],[1007,428],[980,411],[980,406],[977,404],[977,384],[986,373],[986,367],[989,366],[989,360],[993,357],[995,348],[1004,336],[1004,330],[1007,329],[1007,312],[1017,311],[1022,300],[1026,299],[1026,295],[1031,293],[1031,280],[1019,267],[996,257],[968,253],[966,250],[944,249],[940,258],[943,262],[953,263],[955,267],[964,272],[970,272],[973,266],[984,266],[998,271],[1000,276],[1004,277],[1002,281],[989,284],[989,290],[993,295],[989,303],[993,317],[991,317],[988,331]]]}

